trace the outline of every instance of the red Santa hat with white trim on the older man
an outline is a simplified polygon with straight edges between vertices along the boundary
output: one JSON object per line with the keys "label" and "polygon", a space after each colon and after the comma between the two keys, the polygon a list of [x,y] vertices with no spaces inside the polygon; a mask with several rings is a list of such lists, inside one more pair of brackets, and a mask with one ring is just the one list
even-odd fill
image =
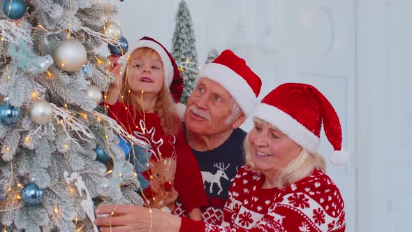
{"label": "red Santa hat with white trim on the older man", "polygon": [[224,50],[212,63],[205,64],[196,82],[200,78],[208,78],[222,85],[247,117],[258,104],[262,81],[251,71],[246,61],[231,50]]}

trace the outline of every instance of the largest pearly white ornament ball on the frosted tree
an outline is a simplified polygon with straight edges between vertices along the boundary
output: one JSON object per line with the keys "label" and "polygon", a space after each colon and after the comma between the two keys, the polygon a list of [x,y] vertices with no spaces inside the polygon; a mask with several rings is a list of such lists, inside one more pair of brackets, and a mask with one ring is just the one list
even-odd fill
{"label": "largest pearly white ornament ball on the frosted tree", "polygon": [[79,41],[64,41],[54,50],[54,61],[64,71],[78,71],[87,62],[86,48]]}

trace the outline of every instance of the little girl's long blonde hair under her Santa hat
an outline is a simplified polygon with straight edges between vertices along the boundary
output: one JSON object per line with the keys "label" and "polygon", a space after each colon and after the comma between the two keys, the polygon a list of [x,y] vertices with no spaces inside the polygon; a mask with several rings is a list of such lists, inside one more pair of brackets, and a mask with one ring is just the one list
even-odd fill
{"label": "little girl's long blonde hair under her Santa hat", "polygon": [[[153,50],[152,48],[138,48],[136,49],[133,54],[137,58],[140,58],[146,54],[152,55],[155,54],[159,60],[161,60],[161,57],[159,54]],[[128,65],[126,64],[126,69],[124,71],[124,76],[123,76],[123,85],[122,85],[122,94],[119,96],[119,101],[122,101],[130,106],[133,106],[136,112],[132,113],[133,119],[136,117],[136,113],[143,113],[142,106],[140,106],[139,102],[137,99],[135,99],[135,94],[131,94],[132,90],[131,87],[128,85],[127,77],[128,76]],[[163,68],[164,64],[162,62]],[[166,78],[166,77],[165,77]],[[126,96],[124,96],[126,94]],[[134,96],[134,97],[133,97]],[[160,124],[161,128],[163,129],[164,133],[171,135],[171,134],[177,134],[179,133],[179,116],[177,115],[177,111],[175,108],[175,102],[172,99],[172,95],[170,94],[170,91],[165,87],[164,82],[163,82],[163,87],[161,91],[158,94],[157,100],[156,100],[156,105],[154,107],[154,112],[158,113],[160,117]]]}

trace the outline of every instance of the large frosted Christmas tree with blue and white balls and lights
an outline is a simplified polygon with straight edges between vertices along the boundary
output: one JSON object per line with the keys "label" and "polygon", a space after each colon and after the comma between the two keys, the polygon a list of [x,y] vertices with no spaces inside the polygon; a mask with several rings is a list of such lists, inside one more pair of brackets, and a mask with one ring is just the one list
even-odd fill
{"label": "large frosted Christmas tree with blue and white balls and lights", "polygon": [[106,31],[117,9],[99,0],[3,2],[0,227],[97,231],[97,201],[143,203],[118,144],[145,143],[98,110],[113,78],[95,50],[119,43]]}

